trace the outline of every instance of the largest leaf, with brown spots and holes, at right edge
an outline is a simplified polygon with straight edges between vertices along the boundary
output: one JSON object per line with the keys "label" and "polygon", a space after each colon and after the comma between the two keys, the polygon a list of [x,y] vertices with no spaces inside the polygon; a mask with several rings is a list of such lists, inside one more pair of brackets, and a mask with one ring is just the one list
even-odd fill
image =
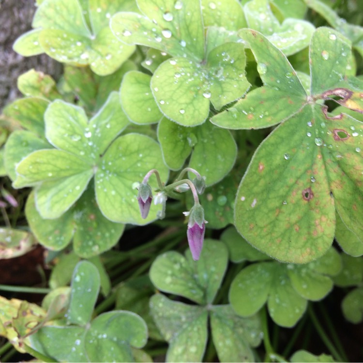
{"label": "largest leaf, with brown spots and holes, at right edge", "polygon": [[[260,144],[241,181],[235,225],[262,252],[283,261],[308,262],[332,244],[335,211],[349,230],[363,237],[358,220],[358,211],[363,212],[363,143],[357,137],[363,125],[343,113],[332,118],[321,105],[321,100],[340,93],[340,102],[350,107],[355,87],[350,91],[339,86],[348,84],[343,81],[348,60],[341,54],[349,54],[350,44],[334,30],[315,31],[310,45],[311,95],[307,95],[277,48],[254,30],[241,32],[264,86],[211,121],[246,129],[281,124]],[[359,107],[354,102],[354,109],[362,112]]]}

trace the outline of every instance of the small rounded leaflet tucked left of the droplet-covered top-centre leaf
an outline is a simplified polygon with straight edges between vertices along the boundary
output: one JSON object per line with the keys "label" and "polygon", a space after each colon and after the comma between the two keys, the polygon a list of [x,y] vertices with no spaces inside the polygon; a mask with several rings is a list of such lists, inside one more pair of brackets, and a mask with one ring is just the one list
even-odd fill
{"label": "small rounded leaflet tucked left of the droplet-covered top-centre leaf", "polygon": [[137,124],[159,122],[162,114],[155,104],[150,88],[151,76],[138,71],[128,72],[122,79],[120,99],[130,121]]}

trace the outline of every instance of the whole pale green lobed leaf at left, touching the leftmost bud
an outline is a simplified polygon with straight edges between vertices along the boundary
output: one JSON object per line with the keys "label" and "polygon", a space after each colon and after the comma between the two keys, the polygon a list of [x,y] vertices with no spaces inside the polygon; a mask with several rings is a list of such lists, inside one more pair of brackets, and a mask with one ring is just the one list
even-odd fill
{"label": "whole pale green lobed leaf at left, touching the leftmost bud", "polygon": [[[45,112],[45,136],[56,149],[34,151],[24,158],[17,166],[14,185],[37,185],[37,210],[42,218],[52,219],[74,205],[95,175],[97,202],[108,219],[150,222],[156,211],[142,221],[137,211],[137,191],[131,187],[154,167],[165,180],[167,169],[159,146],[149,137],[128,134],[113,142],[127,124],[117,92],[110,93],[106,104],[90,121],[82,108],[54,101]],[[130,172],[124,173],[131,165],[134,180],[130,179]]]}

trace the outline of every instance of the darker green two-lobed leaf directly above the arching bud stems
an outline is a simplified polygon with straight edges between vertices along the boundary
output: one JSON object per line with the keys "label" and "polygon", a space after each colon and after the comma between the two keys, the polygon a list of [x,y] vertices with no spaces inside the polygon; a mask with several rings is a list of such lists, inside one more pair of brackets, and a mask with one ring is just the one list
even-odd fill
{"label": "darker green two-lobed leaf directly above the arching bud stems", "polygon": [[237,155],[230,132],[210,122],[191,129],[163,118],[158,126],[158,139],[167,166],[179,170],[191,153],[189,167],[206,177],[206,185],[222,180]]}

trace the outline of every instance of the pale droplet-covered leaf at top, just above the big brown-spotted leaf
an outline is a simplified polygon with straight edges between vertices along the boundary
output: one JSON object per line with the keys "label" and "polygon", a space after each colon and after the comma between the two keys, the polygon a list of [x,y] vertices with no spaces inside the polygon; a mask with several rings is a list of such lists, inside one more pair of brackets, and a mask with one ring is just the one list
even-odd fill
{"label": "pale droplet-covered leaf at top, just above the big brown-spotted leaf", "polygon": [[[286,4],[284,8],[287,8]],[[269,0],[248,1],[243,10],[248,27],[266,35],[284,54],[297,53],[309,45],[314,26],[307,21],[292,18],[285,19],[280,25],[272,13]]]}

